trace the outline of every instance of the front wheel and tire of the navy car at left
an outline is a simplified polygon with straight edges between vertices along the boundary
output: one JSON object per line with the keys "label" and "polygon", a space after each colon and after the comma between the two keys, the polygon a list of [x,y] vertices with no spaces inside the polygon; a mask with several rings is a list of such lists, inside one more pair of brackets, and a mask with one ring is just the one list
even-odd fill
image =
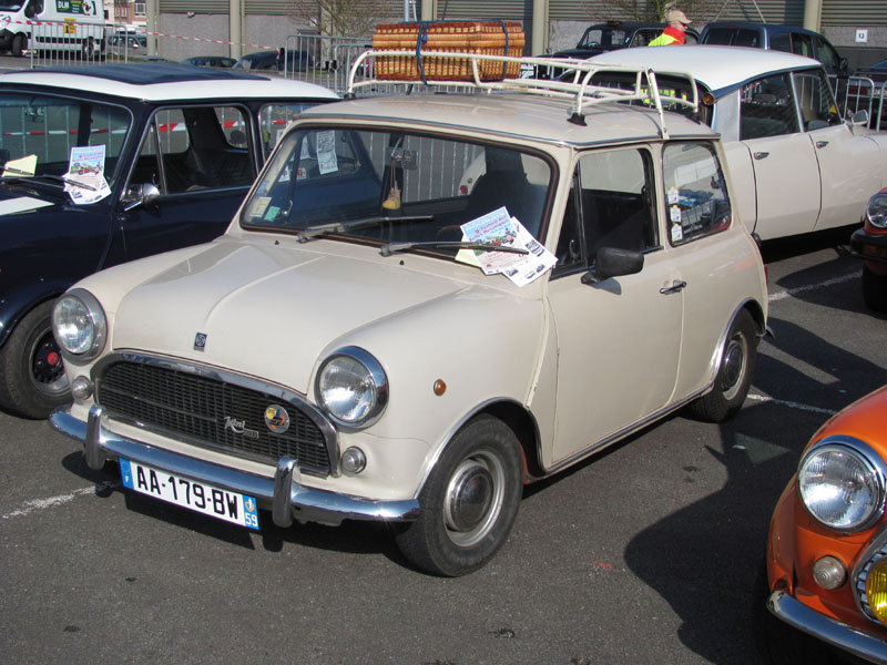
{"label": "front wheel and tire of the navy car at left", "polygon": [[47,418],[71,401],[59,346],[52,337],[52,300],[34,307],[0,349],[0,408]]}

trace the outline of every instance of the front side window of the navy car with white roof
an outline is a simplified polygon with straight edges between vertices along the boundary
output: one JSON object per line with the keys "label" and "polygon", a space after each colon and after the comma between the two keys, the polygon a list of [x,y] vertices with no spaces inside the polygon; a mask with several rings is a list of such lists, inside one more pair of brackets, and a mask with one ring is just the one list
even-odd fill
{"label": "front side window of the navy car with white roof", "polygon": [[255,177],[248,126],[236,106],[162,109],[154,114],[131,182],[161,194],[247,186]]}

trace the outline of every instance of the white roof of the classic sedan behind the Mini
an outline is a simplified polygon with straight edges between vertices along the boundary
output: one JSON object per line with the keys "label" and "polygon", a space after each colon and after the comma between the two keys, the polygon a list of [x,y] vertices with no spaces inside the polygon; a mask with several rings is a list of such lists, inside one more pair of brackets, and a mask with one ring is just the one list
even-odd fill
{"label": "white roof of the classic sedan behind the Mini", "polygon": [[620,49],[594,55],[589,61],[595,64],[652,68],[654,71],[687,72],[715,96],[725,94],[767,72],[823,66],[810,58],[783,51],[707,44]]}

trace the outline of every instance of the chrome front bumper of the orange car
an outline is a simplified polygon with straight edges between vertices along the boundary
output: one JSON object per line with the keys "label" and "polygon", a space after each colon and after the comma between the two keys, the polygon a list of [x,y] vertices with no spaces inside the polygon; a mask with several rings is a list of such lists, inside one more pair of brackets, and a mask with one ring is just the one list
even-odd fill
{"label": "chrome front bumper of the orange car", "polygon": [[887,643],[810,610],[784,591],[774,591],[767,608],[796,628],[871,663],[887,663]]}

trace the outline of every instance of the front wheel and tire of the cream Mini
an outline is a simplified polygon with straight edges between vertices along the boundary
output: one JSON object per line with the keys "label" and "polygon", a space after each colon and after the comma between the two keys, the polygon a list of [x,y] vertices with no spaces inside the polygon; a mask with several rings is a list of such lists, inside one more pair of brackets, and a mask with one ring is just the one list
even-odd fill
{"label": "front wheel and tire of the cream Mini", "polygon": [[498,418],[470,420],[419,494],[420,515],[396,535],[422,571],[456,577],[487,563],[508,539],[522,494],[523,456]]}

